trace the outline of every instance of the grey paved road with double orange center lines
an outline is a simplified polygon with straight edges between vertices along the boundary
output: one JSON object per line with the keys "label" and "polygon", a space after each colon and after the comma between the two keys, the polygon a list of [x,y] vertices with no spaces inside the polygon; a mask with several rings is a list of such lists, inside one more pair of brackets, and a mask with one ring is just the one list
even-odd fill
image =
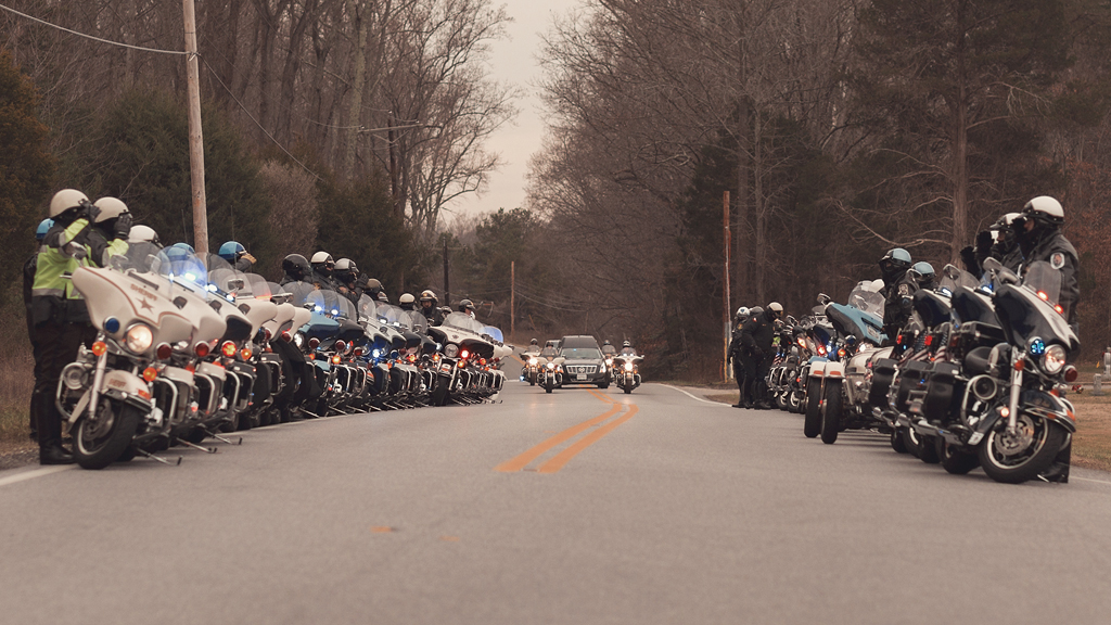
{"label": "grey paved road with double orange center lines", "polygon": [[1107,474],[1007,486],[665,386],[510,385],[0,472],[0,622],[1111,622]]}

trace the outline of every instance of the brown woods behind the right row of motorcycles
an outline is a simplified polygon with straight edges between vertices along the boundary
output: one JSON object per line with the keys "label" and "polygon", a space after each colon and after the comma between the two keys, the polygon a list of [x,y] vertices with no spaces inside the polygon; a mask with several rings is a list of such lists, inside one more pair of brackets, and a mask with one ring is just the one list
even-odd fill
{"label": "brown woods behind the right row of motorcycles", "polygon": [[567,295],[607,315],[582,329],[633,331],[680,369],[720,358],[724,190],[732,308],[794,315],[895,246],[940,272],[1052,195],[1081,254],[1082,340],[1111,338],[1108,2],[584,4],[548,37],[529,196]]}

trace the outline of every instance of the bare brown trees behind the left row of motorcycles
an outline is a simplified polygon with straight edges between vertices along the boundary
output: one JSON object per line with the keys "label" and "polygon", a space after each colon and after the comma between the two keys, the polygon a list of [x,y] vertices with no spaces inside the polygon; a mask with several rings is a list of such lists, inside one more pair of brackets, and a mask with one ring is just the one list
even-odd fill
{"label": "bare brown trees behind the left row of motorcycles", "polygon": [[[109,41],[183,49],[180,2],[6,4]],[[484,141],[513,113],[513,90],[487,63],[504,11],[491,0],[226,0],[196,11],[210,245],[237,238],[268,272],[286,254],[323,248],[392,294],[423,287],[440,211],[487,183],[498,159]],[[41,96],[50,186],[118,196],[163,240],[191,241],[184,58],[7,11],[0,47]]]}

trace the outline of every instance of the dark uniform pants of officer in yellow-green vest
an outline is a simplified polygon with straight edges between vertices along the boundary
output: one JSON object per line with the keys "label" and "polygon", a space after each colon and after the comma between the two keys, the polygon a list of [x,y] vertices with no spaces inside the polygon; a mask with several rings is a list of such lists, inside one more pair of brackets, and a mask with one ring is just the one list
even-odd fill
{"label": "dark uniform pants of officer in yellow-green vest", "polygon": [[34,358],[34,394],[38,403],[39,448],[57,447],[62,443],[62,415],[58,411],[58,379],[62,369],[77,360],[81,344],[89,345],[97,330],[88,324],[46,321],[34,327],[38,349]]}

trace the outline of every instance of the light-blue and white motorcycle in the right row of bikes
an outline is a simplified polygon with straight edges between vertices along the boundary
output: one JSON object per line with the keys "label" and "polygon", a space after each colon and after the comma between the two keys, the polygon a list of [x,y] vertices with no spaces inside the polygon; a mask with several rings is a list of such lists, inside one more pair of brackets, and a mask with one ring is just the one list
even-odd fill
{"label": "light-blue and white motorcycle in the right row of bikes", "polygon": [[832,445],[845,429],[887,428],[872,415],[869,390],[870,365],[890,354],[890,348],[879,349],[887,339],[883,296],[872,280],[859,282],[845,304],[827,304],[824,312],[837,337],[827,349],[834,350],[835,357],[813,364],[810,376],[822,380],[819,434],[822,443]]}

